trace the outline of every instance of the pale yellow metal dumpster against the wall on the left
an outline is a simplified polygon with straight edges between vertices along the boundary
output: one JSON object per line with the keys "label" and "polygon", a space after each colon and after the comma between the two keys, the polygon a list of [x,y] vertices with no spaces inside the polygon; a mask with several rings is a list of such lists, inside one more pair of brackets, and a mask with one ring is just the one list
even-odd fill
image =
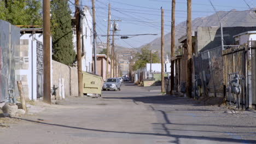
{"label": "pale yellow metal dumpster against the wall on the left", "polygon": [[83,93],[101,95],[102,82],[101,76],[83,72]]}

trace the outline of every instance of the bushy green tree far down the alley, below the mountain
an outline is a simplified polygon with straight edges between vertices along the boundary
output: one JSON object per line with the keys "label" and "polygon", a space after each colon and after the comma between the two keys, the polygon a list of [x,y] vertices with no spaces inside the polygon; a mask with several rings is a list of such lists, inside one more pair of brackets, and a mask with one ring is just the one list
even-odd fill
{"label": "bushy green tree far down the alley, below the mountain", "polygon": [[[146,45],[141,49],[141,53],[136,53],[135,58],[137,58],[137,61],[133,66],[135,70],[144,68],[147,63],[150,63],[150,50],[148,47],[149,45]],[[152,63],[160,63],[157,52],[152,53]]]}

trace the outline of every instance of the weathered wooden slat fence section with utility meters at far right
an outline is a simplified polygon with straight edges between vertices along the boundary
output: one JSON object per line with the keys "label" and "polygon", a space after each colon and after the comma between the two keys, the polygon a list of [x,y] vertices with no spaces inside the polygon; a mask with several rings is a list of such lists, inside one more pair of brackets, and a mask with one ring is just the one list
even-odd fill
{"label": "weathered wooden slat fence section with utility meters at far right", "polygon": [[252,67],[251,50],[245,45],[232,46],[223,50],[224,87],[226,100],[230,105],[235,103],[238,108],[247,108],[252,103]]}

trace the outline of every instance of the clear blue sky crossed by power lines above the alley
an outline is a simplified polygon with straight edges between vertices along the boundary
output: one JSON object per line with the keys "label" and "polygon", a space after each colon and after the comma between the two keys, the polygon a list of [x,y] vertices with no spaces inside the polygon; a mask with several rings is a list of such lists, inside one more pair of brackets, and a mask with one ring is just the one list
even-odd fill
{"label": "clear blue sky crossed by power lines above the alley", "polygon": [[[211,0],[211,2],[217,11],[247,10],[256,5],[255,0]],[[80,0],[80,3],[91,7],[89,0]],[[115,43],[121,46],[139,47],[160,37],[161,7],[165,10],[165,34],[171,32],[171,0],[95,0],[97,34],[107,34],[107,21],[104,20],[108,17],[108,3],[112,6],[112,20],[122,20],[118,22],[121,30],[118,34],[158,34],[115,40]],[[71,5],[71,8],[74,9],[74,5]],[[186,10],[187,1],[176,0],[176,25],[187,20]],[[210,0],[192,0],[192,11],[193,19],[214,14]],[[106,38],[100,37],[100,39],[106,42]]]}

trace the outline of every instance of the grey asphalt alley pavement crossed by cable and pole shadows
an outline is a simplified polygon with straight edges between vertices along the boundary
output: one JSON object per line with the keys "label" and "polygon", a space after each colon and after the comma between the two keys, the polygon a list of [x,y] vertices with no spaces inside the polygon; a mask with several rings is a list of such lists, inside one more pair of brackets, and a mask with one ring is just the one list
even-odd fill
{"label": "grey asphalt alley pavement crossed by cable and pole shadows", "polygon": [[0,127],[1,143],[256,143],[256,112],[231,113],[124,83]]}

